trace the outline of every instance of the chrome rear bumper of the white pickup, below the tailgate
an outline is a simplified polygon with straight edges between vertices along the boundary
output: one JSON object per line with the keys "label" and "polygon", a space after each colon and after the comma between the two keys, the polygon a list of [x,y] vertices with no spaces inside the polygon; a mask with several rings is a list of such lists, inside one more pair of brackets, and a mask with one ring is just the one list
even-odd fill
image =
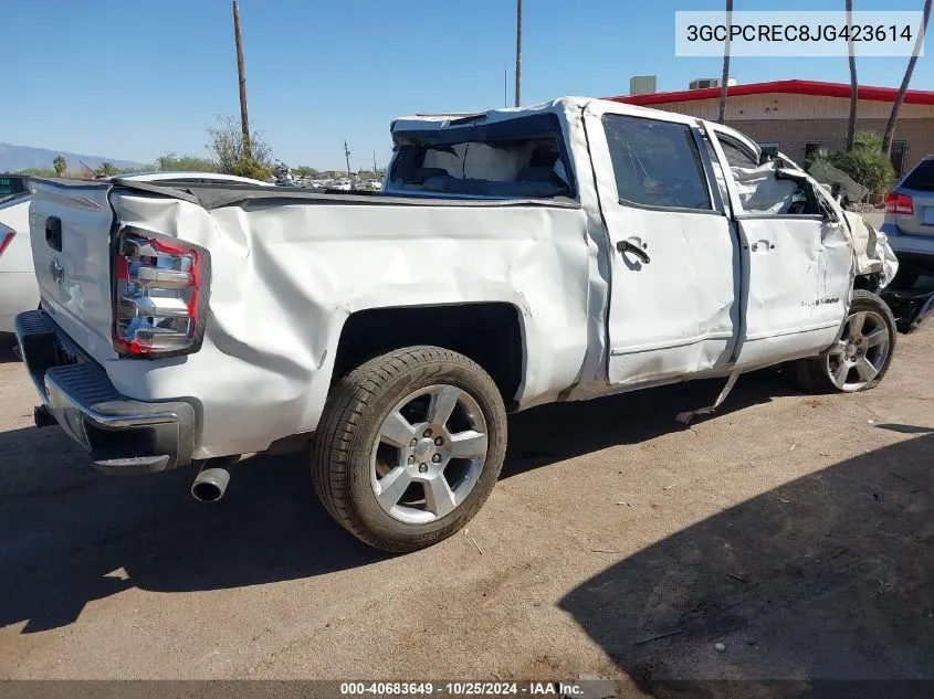
{"label": "chrome rear bumper of the white pickup, below the tailgate", "polygon": [[15,332],[43,405],[99,470],[136,475],[191,463],[196,416],[190,403],[122,395],[41,310],[18,315]]}

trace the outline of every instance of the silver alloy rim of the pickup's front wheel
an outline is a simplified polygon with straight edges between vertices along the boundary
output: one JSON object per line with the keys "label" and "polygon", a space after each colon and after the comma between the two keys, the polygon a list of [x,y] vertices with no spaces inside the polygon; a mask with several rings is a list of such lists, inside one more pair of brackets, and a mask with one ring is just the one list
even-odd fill
{"label": "silver alloy rim of the pickup's front wheel", "polygon": [[827,375],[841,391],[859,391],[875,379],[889,357],[889,327],[879,314],[860,310],[847,317],[843,335],[828,352]]}

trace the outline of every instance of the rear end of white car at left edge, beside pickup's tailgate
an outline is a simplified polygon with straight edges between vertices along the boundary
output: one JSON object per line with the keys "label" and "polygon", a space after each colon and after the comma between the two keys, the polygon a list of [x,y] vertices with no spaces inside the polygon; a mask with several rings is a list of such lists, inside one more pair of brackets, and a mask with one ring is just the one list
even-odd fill
{"label": "rear end of white car at left edge, beside pickup's tailgate", "polygon": [[0,333],[13,332],[17,314],[39,307],[29,244],[28,180],[0,174]]}

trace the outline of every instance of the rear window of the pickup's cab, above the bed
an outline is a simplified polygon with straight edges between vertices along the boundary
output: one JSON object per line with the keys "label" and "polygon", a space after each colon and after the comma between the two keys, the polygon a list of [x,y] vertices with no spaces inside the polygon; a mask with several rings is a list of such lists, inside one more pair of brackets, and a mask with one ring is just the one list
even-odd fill
{"label": "rear window of the pickup's cab, above the bed", "polygon": [[395,190],[491,198],[574,197],[574,179],[554,114],[441,129],[393,133]]}

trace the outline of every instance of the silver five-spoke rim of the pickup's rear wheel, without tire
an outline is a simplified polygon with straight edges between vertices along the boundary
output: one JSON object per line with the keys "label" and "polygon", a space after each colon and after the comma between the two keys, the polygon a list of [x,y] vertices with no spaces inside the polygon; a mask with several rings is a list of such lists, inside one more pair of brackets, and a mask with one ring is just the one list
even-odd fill
{"label": "silver five-spoke rim of the pickup's rear wheel, without tire", "polygon": [[486,419],[466,391],[439,384],[410,393],[389,411],[372,447],[377,501],[401,522],[441,519],[476,486],[486,445]]}

